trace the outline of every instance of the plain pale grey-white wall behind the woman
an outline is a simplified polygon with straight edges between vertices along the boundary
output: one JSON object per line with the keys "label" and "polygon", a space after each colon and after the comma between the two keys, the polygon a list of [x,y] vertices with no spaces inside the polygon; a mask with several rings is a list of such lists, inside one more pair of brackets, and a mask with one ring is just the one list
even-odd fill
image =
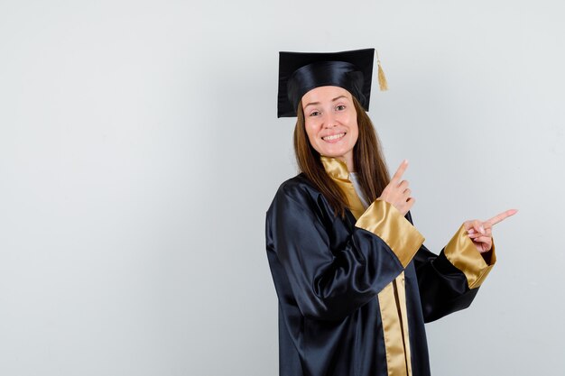
{"label": "plain pale grey-white wall behind the woman", "polygon": [[[279,50],[375,47],[371,115],[435,252],[496,269],[435,375],[565,369],[560,1],[0,0],[0,374],[276,375],[264,214],[296,174]],[[375,85],[375,83],[374,83]]]}

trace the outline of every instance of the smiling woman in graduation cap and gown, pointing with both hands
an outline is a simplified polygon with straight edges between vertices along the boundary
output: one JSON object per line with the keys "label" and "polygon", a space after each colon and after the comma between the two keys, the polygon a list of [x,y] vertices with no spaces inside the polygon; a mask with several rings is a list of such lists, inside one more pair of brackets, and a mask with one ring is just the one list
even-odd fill
{"label": "smiling woman in graduation cap and gown, pointing with both hands", "polygon": [[470,305],[496,263],[493,226],[516,212],[468,220],[428,251],[408,162],[390,178],[366,114],[374,56],[280,53],[278,116],[296,117],[300,170],[266,214],[281,376],[430,375],[424,323]]}

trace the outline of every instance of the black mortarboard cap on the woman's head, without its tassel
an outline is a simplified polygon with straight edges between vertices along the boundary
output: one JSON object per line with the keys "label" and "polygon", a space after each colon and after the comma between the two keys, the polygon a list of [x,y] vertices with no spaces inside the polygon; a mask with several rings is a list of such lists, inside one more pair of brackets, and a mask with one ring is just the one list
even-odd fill
{"label": "black mortarboard cap on the woman's head, without its tassel", "polygon": [[369,110],[375,49],[279,52],[278,117],[296,116],[302,96],[315,87],[345,88]]}

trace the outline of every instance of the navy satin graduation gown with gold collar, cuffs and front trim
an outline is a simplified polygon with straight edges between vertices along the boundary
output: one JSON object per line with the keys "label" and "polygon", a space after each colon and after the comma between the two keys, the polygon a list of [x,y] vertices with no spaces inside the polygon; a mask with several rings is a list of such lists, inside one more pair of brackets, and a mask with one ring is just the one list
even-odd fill
{"label": "navy satin graduation gown with gold collar, cuffs and front trim", "polygon": [[345,218],[303,174],[266,215],[279,298],[280,376],[430,375],[424,323],[469,306],[494,265],[461,226],[436,255],[394,206],[364,208],[345,163],[322,157]]}

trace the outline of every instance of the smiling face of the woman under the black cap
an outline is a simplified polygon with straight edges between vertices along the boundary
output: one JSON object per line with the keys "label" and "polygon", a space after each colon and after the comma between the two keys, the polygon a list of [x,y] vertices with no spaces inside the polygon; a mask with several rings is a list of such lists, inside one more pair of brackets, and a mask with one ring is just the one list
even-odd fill
{"label": "smiling face of the woman under the black cap", "polygon": [[304,124],[312,147],[353,168],[353,147],[359,128],[353,98],[342,87],[316,87],[302,96]]}

